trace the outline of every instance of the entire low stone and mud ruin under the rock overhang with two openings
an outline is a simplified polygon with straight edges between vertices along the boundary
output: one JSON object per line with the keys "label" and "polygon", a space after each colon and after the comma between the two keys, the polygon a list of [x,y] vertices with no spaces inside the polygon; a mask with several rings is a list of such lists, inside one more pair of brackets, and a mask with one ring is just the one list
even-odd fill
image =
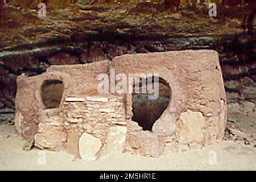
{"label": "entire low stone and mud ruin under the rock overhang with two openings", "polygon": [[[97,76],[110,74],[110,69],[126,75],[158,73],[159,94],[166,86],[167,100],[152,101],[146,111],[143,103],[134,105],[135,94],[98,93]],[[19,136],[41,149],[65,148],[81,159],[118,152],[158,157],[224,137],[226,96],[216,51],[138,53],[53,65],[38,76],[19,76],[17,88]]]}

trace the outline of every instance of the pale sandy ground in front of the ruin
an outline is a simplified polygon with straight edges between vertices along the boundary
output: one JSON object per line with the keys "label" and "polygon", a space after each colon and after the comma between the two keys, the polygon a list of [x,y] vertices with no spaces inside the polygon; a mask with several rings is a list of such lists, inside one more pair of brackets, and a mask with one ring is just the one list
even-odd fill
{"label": "pale sandy ground in front of the ruin", "polygon": [[256,148],[233,141],[160,158],[118,154],[96,162],[75,159],[65,151],[26,152],[23,144],[14,126],[0,125],[1,170],[256,170]]}

